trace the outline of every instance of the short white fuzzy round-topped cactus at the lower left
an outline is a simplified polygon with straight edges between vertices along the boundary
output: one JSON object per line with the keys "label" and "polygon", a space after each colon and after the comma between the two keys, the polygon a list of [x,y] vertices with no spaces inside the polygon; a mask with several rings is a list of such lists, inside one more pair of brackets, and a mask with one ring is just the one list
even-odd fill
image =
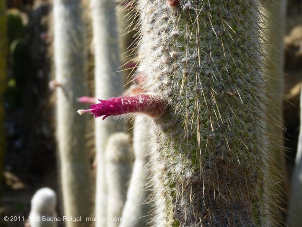
{"label": "short white fuzzy round-topped cactus at the lower left", "polygon": [[31,199],[30,226],[56,227],[57,221],[53,221],[56,218],[56,193],[50,188],[37,190]]}

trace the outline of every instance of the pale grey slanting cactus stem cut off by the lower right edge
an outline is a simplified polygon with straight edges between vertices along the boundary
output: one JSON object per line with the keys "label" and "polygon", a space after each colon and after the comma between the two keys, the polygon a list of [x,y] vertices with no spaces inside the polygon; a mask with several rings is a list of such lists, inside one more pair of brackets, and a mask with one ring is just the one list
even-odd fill
{"label": "pale grey slanting cactus stem cut off by the lower right edge", "polygon": [[295,168],[291,180],[291,194],[289,201],[288,227],[298,227],[302,223],[302,91],[300,93],[300,133]]}

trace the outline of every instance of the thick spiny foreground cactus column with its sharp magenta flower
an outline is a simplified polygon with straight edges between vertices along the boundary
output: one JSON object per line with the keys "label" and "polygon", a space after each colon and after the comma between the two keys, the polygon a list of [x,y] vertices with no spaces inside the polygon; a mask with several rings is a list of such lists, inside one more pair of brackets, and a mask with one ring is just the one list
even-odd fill
{"label": "thick spiny foreground cactus column with its sharp magenta flower", "polygon": [[139,86],[152,95],[100,100],[90,111],[150,113],[154,105],[157,227],[275,225],[260,2],[137,2],[146,75]]}

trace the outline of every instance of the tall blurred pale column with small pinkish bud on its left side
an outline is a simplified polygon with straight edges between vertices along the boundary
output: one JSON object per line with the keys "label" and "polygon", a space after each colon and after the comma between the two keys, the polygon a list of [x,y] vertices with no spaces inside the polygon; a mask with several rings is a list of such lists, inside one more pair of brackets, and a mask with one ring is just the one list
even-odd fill
{"label": "tall blurred pale column with small pinkish bud on its left side", "polygon": [[[91,215],[91,181],[85,138],[88,118],[75,115],[86,94],[85,26],[80,0],[54,0],[54,60],[57,88],[57,139],[61,167],[64,215]],[[89,226],[89,222],[66,222],[66,226]]]}

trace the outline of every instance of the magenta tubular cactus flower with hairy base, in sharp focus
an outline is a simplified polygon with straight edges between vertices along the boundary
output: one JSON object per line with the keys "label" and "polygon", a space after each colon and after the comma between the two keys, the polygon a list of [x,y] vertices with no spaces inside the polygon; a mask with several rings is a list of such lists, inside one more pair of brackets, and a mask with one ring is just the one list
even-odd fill
{"label": "magenta tubular cactus flower with hairy base, in sharp focus", "polygon": [[153,94],[98,100],[100,101],[99,103],[90,105],[91,109],[80,109],[77,112],[79,114],[91,112],[96,118],[104,116],[103,120],[108,116],[116,116],[131,112],[142,112],[151,117],[160,117],[163,115],[166,106],[162,97]]}

